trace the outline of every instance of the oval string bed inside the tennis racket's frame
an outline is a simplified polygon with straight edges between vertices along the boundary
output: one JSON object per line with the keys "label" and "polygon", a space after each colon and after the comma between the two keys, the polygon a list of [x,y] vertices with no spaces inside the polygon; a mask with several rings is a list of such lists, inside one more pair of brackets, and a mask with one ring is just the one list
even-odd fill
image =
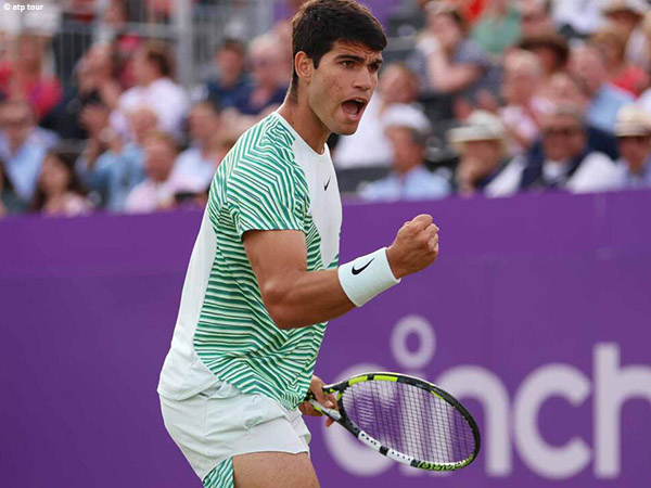
{"label": "oval string bed inside the tennis racket's frame", "polygon": [[344,408],[368,435],[403,454],[436,464],[468,459],[474,435],[447,401],[407,383],[370,381],[344,391]]}

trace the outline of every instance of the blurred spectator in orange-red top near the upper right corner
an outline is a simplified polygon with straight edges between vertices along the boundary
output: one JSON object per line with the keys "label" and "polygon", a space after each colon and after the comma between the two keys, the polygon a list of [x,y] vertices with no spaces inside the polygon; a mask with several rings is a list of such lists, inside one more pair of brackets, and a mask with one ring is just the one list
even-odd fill
{"label": "blurred spectator in orange-red top near the upper right corner", "polygon": [[649,85],[649,76],[626,61],[628,35],[622,27],[611,24],[597,30],[590,38],[603,55],[608,81],[633,97],[638,97]]}

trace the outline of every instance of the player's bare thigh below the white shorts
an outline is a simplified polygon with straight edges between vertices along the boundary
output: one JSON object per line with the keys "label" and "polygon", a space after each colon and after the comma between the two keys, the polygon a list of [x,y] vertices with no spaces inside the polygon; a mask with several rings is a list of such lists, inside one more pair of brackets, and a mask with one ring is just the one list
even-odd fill
{"label": "player's bare thigh below the white shorts", "polygon": [[306,452],[253,452],[233,457],[235,488],[319,488]]}

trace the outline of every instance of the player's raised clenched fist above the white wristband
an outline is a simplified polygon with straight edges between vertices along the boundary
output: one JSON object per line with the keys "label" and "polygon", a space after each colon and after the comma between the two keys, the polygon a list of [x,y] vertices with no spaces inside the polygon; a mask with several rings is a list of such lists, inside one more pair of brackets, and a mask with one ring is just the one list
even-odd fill
{"label": "player's raised clenched fist above the white wristband", "polygon": [[391,270],[397,279],[426,268],[438,256],[438,227],[432,216],[419,215],[405,222],[386,249]]}

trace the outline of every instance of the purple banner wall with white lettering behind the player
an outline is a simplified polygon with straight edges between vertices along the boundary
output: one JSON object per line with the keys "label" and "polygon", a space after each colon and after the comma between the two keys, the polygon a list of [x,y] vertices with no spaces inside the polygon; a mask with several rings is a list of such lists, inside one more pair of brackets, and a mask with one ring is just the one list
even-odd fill
{"label": "purple banner wall with white lettering behind the player", "polygon": [[[333,321],[317,373],[434,381],[483,447],[429,474],[310,419],[321,485],[649,486],[649,208],[650,192],[346,205],[344,261],[420,213],[441,256]],[[1,486],[200,486],[155,393],[200,218],[0,221]]]}

